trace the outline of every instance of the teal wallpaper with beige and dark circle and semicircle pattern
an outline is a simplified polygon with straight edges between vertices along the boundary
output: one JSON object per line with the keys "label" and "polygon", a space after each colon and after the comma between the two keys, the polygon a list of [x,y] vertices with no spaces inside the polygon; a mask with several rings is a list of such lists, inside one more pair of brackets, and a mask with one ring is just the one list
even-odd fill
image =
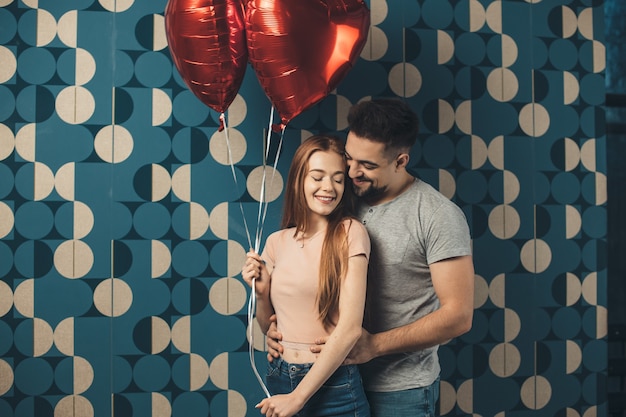
{"label": "teal wallpaper with beige and dark circle and semicircle pattern", "polygon": [[473,328],[440,348],[441,414],[606,416],[601,1],[367,1],[356,65],[287,125],[262,224],[271,104],[248,66],[233,177],[166,4],[0,0],[0,416],[258,415],[246,231],[277,229],[300,140],[345,135],[378,96],[419,114],[412,172],[473,237]]}

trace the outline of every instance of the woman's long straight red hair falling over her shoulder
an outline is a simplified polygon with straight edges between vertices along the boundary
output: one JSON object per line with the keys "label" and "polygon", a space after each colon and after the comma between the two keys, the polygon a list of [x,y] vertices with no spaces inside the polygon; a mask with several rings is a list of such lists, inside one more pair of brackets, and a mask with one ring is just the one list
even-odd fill
{"label": "woman's long straight red hair falling over her shoulder", "polygon": [[[298,147],[287,176],[281,224],[281,228],[295,227],[294,237],[298,233],[306,233],[310,227],[310,210],[304,194],[304,179],[309,172],[309,159],[315,152],[334,152],[345,161],[343,142],[335,136],[311,136]],[[348,230],[344,227],[343,221],[352,217],[353,206],[352,189],[346,186],[341,201],[335,210],[328,215],[326,236],[322,244],[317,290],[319,317],[326,327],[335,324],[335,318],[339,311],[341,280],[345,276],[348,266]]]}

